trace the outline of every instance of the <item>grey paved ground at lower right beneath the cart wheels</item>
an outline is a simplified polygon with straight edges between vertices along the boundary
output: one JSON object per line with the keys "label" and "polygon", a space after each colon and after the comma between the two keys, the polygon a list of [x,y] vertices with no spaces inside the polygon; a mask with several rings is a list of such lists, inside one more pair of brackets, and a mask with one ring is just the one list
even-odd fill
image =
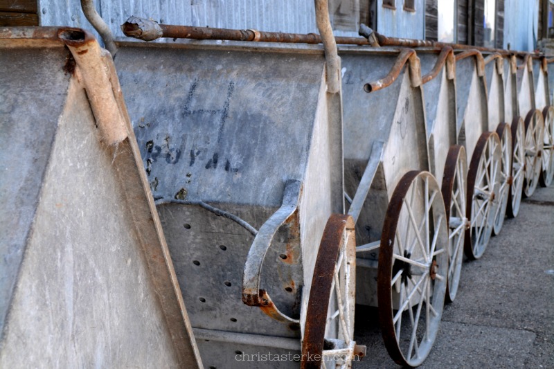
{"label": "grey paved ground at lower right beneath the cart wheels", "polygon": [[[357,306],[355,339],[368,355],[353,368],[399,368],[377,309]],[[554,186],[524,199],[480,260],[464,261],[458,296],[419,368],[554,368]]]}

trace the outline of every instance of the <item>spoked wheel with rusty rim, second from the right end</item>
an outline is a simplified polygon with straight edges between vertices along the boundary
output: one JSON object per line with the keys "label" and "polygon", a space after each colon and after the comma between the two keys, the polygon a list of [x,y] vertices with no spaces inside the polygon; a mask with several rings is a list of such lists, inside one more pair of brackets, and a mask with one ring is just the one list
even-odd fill
{"label": "spoked wheel with rusty rim, second from the right end", "polygon": [[537,188],[542,169],[541,150],[544,142],[544,120],[538,110],[531,110],[525,118],[525,173],[524,196],[530,197]]}

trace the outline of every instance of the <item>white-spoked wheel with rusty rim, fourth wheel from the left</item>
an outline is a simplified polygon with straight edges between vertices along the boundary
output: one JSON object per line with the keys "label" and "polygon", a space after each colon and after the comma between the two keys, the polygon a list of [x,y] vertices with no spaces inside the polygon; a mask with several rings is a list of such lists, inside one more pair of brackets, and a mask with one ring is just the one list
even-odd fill
{"label": "white-spoked wheel with rusty rim, fourth wheel from the left", "polygon": [[501,147],[498,135],[484,132],[473,152],[467,173],[467,208],[470,228],[465,231],[464,252],[468,258],[481,258],[492,234],[500,190]]}

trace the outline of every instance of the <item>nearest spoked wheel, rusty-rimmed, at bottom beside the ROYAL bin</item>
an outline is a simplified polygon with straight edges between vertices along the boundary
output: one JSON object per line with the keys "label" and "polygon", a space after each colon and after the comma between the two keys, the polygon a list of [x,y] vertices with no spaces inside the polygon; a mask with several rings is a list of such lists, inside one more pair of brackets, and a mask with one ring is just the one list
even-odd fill
{"label": "nearest spoked wheel, rusty-rimmed, at bottom beside the ROYAL bin", "polygon": [[[302,345],[302,368],[350,368],[365,354],[353,341],[356,237],[350,215],[329,218],[314,268]],[[325,323],[323,323],[325,322]]]}

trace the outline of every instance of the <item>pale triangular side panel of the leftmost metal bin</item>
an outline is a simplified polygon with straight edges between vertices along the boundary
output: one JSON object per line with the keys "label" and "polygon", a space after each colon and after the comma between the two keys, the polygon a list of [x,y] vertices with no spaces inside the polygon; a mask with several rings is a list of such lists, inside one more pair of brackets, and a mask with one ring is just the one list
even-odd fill
{"label": "pale triangular side panel of the leftmost metal bin", "polygon": [[73,80],[27,240],[1,368],[179,366],[114,150],[99,138],[87,95]]}

